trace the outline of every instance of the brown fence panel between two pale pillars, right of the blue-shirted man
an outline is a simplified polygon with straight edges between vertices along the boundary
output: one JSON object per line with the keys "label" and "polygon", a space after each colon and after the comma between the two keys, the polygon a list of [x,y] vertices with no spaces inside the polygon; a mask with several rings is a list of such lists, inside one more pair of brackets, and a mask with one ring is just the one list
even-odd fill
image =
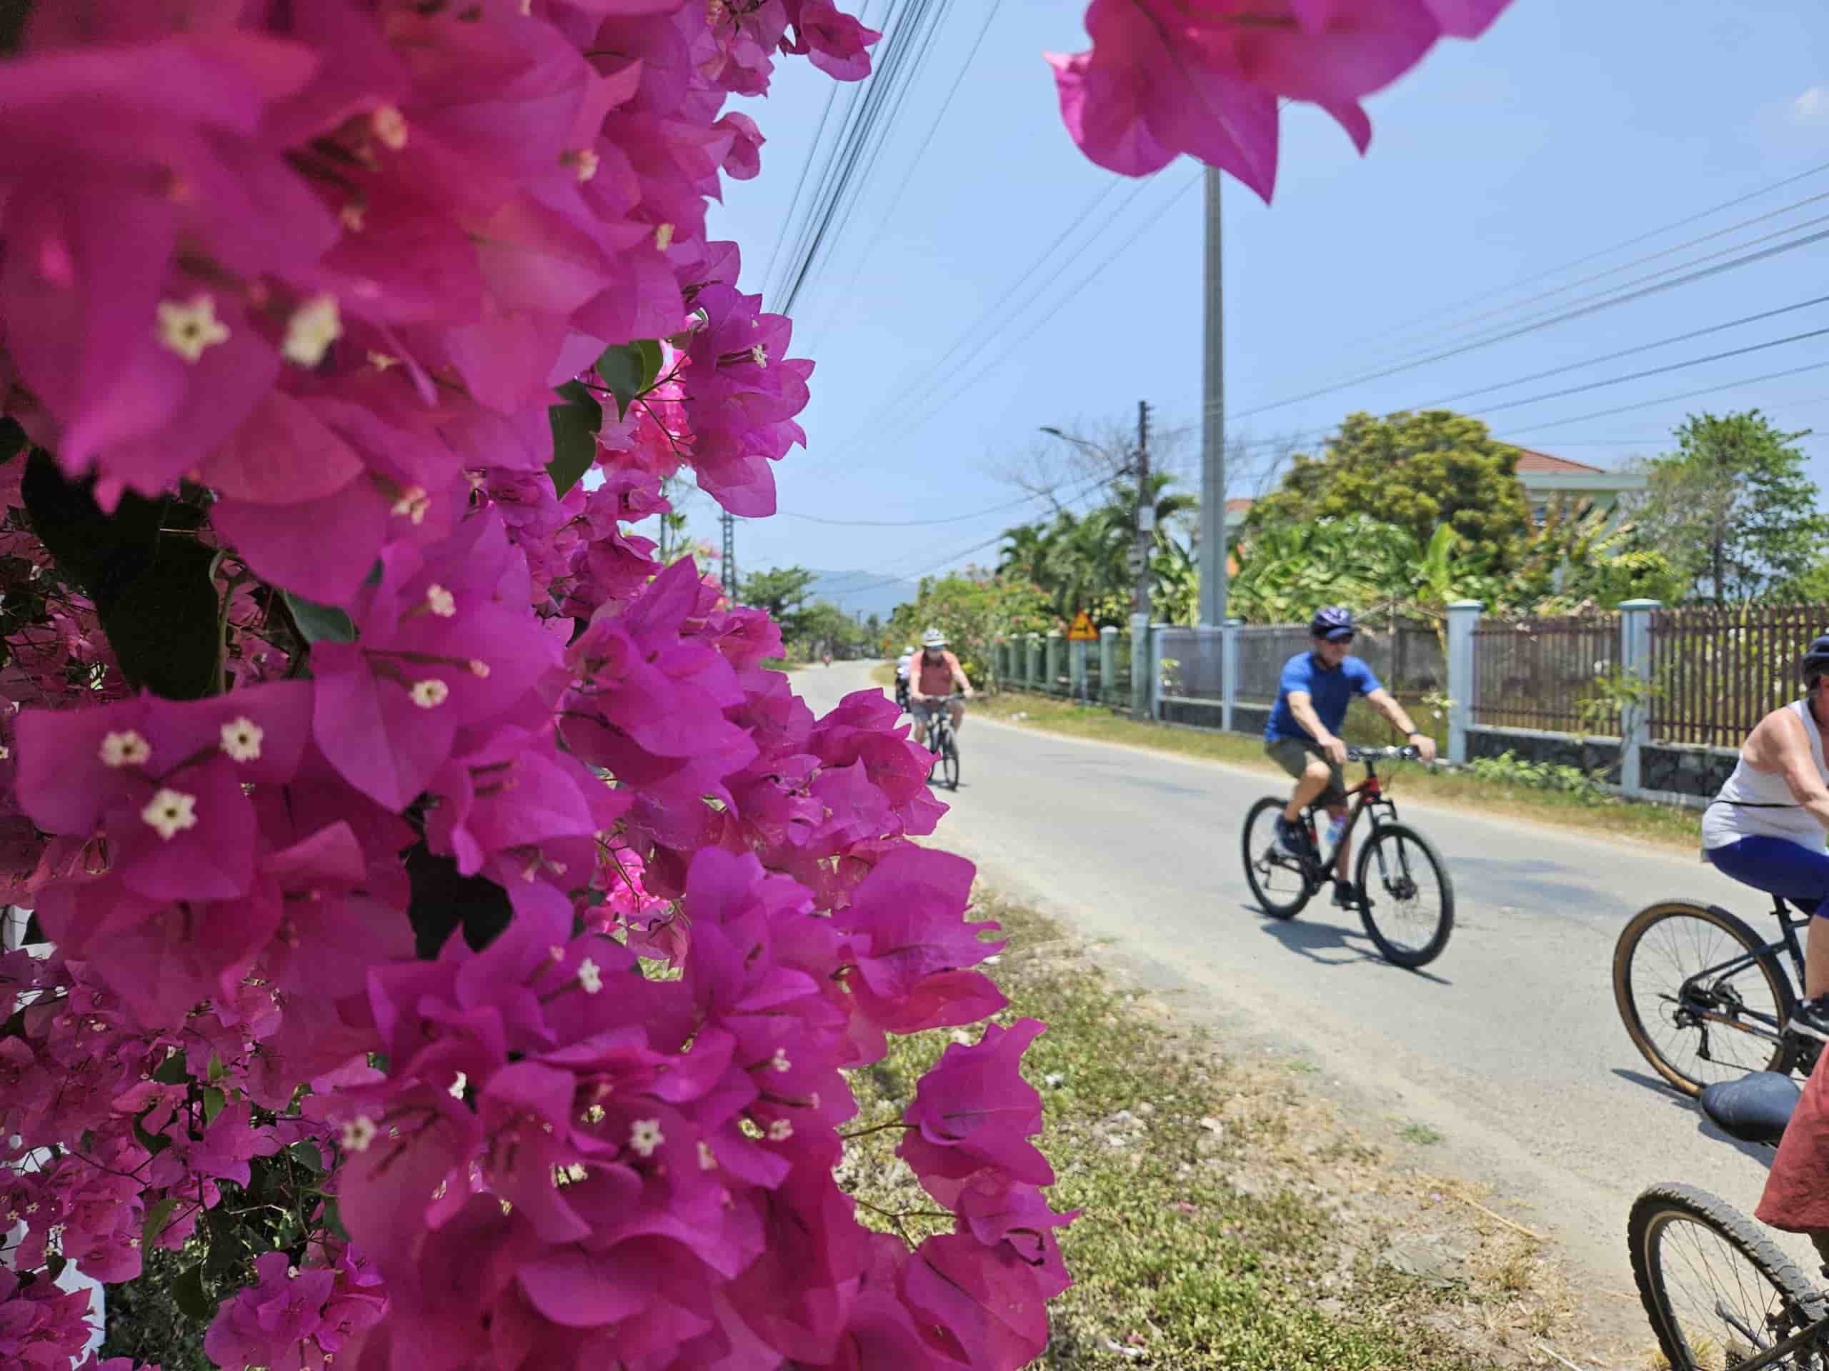
{"label": "brown fence panel between two pale pillars, right of the blue-shirted man", "polygon": [[1584,704],[1619,664],[1619,614],[1485,618],[1474,627],[1474,724],[1551,733],[1613,733]]}

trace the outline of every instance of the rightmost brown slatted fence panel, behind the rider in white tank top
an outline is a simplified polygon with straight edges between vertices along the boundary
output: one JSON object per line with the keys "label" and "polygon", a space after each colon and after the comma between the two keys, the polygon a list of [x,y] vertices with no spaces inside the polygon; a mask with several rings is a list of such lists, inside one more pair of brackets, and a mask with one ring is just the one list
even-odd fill
{"label": "rightmost brown slatted fence panel, behind the rider in white tank top", "polygon": [[1798,664],[1825,605],[1652,611],[1650,737],[1738,748],[1803,691]]}

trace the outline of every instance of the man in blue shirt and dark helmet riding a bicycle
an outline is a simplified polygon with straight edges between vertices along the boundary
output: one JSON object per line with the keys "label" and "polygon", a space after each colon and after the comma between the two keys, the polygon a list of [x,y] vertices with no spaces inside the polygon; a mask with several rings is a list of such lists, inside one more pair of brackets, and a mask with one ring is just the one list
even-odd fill
{"label": "man in blue shirt and dark helmet riding a bicycle", "polygon": [[[1352,656],[1352,611],[1339,605],[1317,609],[1308,625],[1313,645],[1282,664],[1282,682],[1277,687],[1277,707],[1264,726],[1264,751],[1295,777],[1295,793],[1277,823],[1277,837],[1288,852],[1308,852],[1308,832],[1302,828],[1302,810],[1317,799],[1339,826],[1346,819],[1346,744],[1339,731],[1346,722],[1346,706],[1355,695],[1390,720],[1392,728],[1408,735],[1425,762],[1436,760],[1436,740],[1419,733],[1405,707],[1379,686],[1372,667]],[[1337,835],[1335,835],[1337,839]],[[1346,879],[1350,843],[1339,843],[1333,863],[1333,903],[1352,909],[1353,892]]]}

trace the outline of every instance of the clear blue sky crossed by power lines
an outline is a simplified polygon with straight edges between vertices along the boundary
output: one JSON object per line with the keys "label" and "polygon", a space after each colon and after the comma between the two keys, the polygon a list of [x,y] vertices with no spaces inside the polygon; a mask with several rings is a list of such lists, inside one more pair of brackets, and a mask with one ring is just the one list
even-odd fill
{"label": "clear blue sky crossed by power lines", "polygon": [[[880,15],[883,4],[871,0],[867,16]],[[854,214],[796,303],[792,353],[818,362],[814,399],[801,415],[808,448],[796,448],[775,468],[781,514],[739,525],[744,572],[801,563],[913,578],[993,558],[995,550],[968,548],[1044,508],[993,510],[1021,499],[997,470],[1041,441],[1039,426],[1092,431],[1134,419],[1139,399],[1150,400],[1161,428],[1191,426],[1198,417],[1198,168],[1182,159],[1138,188],[1072,146],[1041,53],[1086,46],[1083,0],[1000,0],[931,144],[909,170],[988,4],[953,0]],[[1655,26],[1644,22],[1648,9],[1659,15]],[[1516,0],[1485,38],[1439,44],[1419,69],[1368,101],[1374,141],[1363,159],[1324,115],[1288,108],[1275,203],[1264,207],[1238,183],[1225,185],[1229,435],[1266,444],[1253,450],[1260,457],[1275,439],[1326,430],[1352,409],[1383,413],[1518,382],[1450,406],[1485,415],[1483,406],[1829,329],[1829,303],[1822,303],[1520,380],[1829,296],[1824,241],[1278,404],[1829,216],[1824,170],[1502,289],[1829,163],[1824,53],[1829,7],[1796,0],[1661,0],[1655,7]],[[728,183],[726,203],[711,216],[713,234],[743,245],[743,285],[763,291],[768,309],[779,305],[774,291],[783,263],[774,276],[766,269],[832,84],[799,60],[785,60],[777,71],[770,99],[741,102],[768,137],[763,174]],[[849,99],[850,88],[841,90],[834,124]],[[1785,210],[1813,196],[1825,199]],[[1010,294],[1092,203],[1046,267]],[[1772,218],[1580,283],[1765,214]],[[790,254],[783,249],[781,256]],[[1730,256],[1738,254],[1716,261]],[[1556,294],[1529,303],[1544,292]],[[968,333],[993,307],[997,313]],[[955,344],[962,345],[944,358]],[[1825,366],[1582,419],[1813,364]],[[1494,409],[1489,422],[1509,441],[1611,466],[1657,452],[1663,435],[1703,406],[1759,406],[1785,426],[1829,430],[1829,336]],[[1829,481],[1829,444],[1818,437],[1803,442],[1813,475]],[[1198,442],[1189,444],[1185,461],[1198,461]],[[1198,479],[1198,466],[1191,477]],[[688,508],[693,532],[715,541],[710,501],[701,495]],[[953,521],[871,528],[812,517]]]}

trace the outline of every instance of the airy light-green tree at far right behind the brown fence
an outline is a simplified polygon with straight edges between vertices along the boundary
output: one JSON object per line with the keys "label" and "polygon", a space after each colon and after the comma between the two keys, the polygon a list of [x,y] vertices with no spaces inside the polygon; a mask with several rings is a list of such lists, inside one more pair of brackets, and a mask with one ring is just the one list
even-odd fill
{"label": "airy light-green tree at far right behind the brown fence", "polygon": [[1675,452],[1644,462],[1633,517],[1652,547],[1677,554],[1690,596],[1728,605],[1809,585],[1829,519],[1803,473],[1805,433],[1783,433],[1758,409],[1690,415]]}

